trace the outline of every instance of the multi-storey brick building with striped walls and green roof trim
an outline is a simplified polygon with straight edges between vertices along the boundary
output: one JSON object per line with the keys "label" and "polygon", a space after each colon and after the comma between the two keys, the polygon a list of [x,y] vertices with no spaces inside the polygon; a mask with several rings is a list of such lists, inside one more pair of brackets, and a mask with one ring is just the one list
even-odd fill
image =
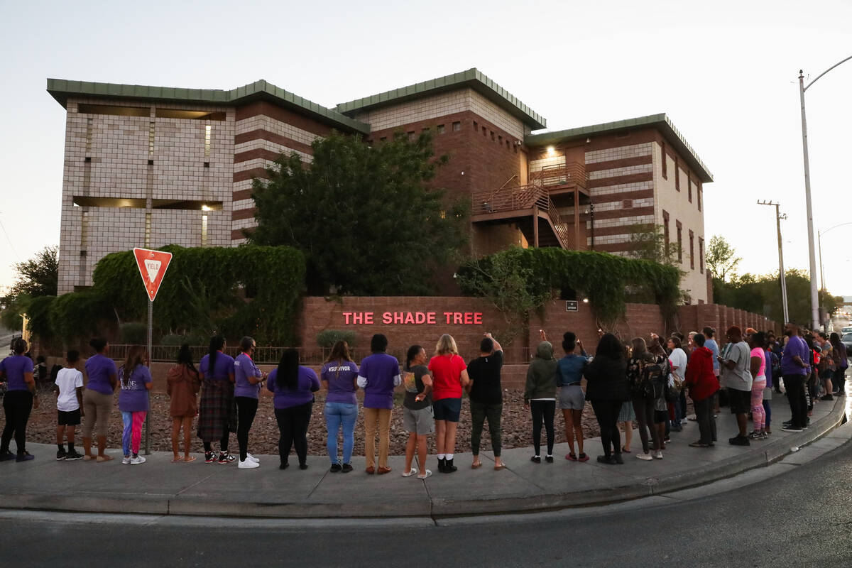
{"label": "multi-storey brick building with striped walls and green roof trim", "polygon": [[435,185],[472,203],[475,255],[511,244],[626,254],[636,227],[681,245],[682,288],[707,301],[703,184],[712,181],[663,114],[556,132],[476,69],[334,108],[257,81],[174,89],[48,79],[66,108],[60,293],[134,246],[227,246],[254,225],[252,177],[281,152],[311,159],[332,129],[381,144],[433,134],[450,160]]}

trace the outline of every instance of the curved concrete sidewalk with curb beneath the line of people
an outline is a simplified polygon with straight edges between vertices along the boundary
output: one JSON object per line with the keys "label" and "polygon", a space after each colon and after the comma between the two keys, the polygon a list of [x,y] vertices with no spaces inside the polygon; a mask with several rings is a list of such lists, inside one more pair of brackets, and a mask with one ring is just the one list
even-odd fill
{"label": "curved concrete sidewalk with curb beneath the line of people", "polygon": [[[784,396],[773,400],[773,434],[751,446],[728,445],[735,433],[727,409],[717,419],[718,444],[688,447],[698,439],[695,422],[671,434],[665,459],[636,459],[642,449],[634,432],[633,453],[621,466],[595,461],[600,439],[586,440],[590,462],[567,462],[567,445],[557,445],[554,463],[530,462],[530,448],[504,450],[508,468],[494,471],[491,452],[483,466],[470,469],[470,454],[457,454],[458,472],[437,473],[429,456],[429,479],[402,478],[403,456],[394,456],[386,475],[364,473],[363,456],[354,457],[352,473],[329,473],[327,456],[308,456],[308,470],[291,465],[281,471],[278,456],[257,456],[261,467],[240,470],[230,465],[172,463],[171,454],[148,456],[141,466],[120,462],[56,462],[55,445],[28,445],[32,462],[0,463],[0,508],[101,513],[189,514],[232,517],[340,518],[445,517],[483,513],[518,513],[588,506],[656,495],[704,485],[751,468],[777,462],[792,447],[829,434],[843,420],[845,399],[815,405],[811,426],[802,433],[781,431],[790,417]],[[399,409],[396,409],[399,411]],[[843,428],[843,436],[848,436]],[[356,435],[358,435],[356,433]],[[802,452],[807,459],[807,452]],[[291,464],[295,464],[291,457]]]}

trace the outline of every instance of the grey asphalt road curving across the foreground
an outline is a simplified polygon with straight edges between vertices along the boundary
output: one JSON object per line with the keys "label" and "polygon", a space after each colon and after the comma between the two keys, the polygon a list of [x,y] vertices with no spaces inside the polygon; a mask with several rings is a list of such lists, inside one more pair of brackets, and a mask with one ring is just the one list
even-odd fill
{"label": "grey asphalt road curving across the foreground", "polygon": [[850,566],[852,443],[691,501],[528,517],[294,525],[0,511],[0,526],[9,566]]}

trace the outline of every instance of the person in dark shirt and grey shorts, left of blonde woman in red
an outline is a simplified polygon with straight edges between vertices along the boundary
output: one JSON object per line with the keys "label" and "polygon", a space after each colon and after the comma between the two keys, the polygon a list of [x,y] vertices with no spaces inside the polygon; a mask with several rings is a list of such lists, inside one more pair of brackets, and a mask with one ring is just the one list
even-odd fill
{"label": "person in dark shirt and grey shorts, left of blonde woman in red", "polygon": [[[426,479],[432,475],[426,469],[426,436],[435,433],[435,412],[432,410],[432,375],[426,367],[426,350],[419,345],[408,347],[406,365],[402,374],[402,383],[406,387],[406,398],[402,401],[402,423],[408,432],[406,443],[406,468],[402,477],[417,475],[417,479]],[[417,462],[423,472],[417,473],[412,467],[414,451],[417,450]]]}

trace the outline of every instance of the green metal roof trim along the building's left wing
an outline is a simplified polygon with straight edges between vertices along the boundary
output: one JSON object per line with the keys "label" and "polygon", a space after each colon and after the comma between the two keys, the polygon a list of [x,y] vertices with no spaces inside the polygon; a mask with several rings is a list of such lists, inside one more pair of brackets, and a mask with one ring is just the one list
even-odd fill
{"label": "green metal roof trim along the building's left wing", "polygon": [[66,106],[69,96],[97,98],[121,98],[135,100],[159,100],[164,102],[207,103],[233,106],[240,102],[267,97],[279,104],[308,112],[325,123],[344,126],[363,134],[370,133],[370,125],[349,118],[325,106],[280,89],[261,79],[229,91],[222,89],[180,89],[176,87],[153,87],[148,85],[123,85],[117,83],[91,83],[48,79],[48,92],[60,105]]}

